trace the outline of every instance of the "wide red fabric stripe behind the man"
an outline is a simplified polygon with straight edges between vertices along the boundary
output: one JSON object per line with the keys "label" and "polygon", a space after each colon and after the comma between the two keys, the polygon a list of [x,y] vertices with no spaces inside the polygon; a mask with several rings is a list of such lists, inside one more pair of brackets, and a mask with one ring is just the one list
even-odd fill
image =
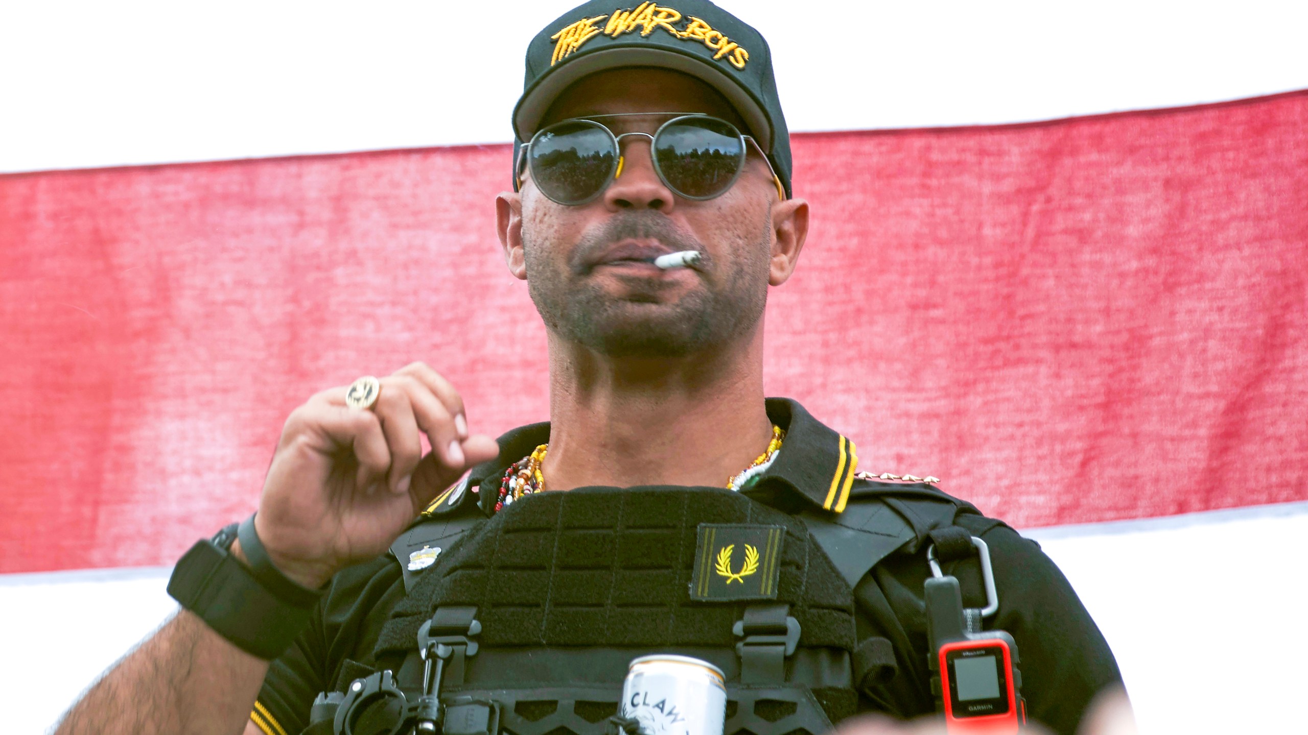
{"label": "wide red fabric stripe behind the man", "polygon": [[[1305,500],[1308,93],[799,135],[769,392],[1016,526]],[[545,417],[506,146],[0,177],[0,572],[167,564],[285,415],[424,360]]]}

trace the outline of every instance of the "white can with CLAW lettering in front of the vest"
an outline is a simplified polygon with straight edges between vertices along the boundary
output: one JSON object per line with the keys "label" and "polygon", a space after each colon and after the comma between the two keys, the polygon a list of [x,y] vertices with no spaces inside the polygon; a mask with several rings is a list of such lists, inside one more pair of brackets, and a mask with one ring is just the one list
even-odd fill
{"label": "white can with CLAW lettering in front of the vest", "polygon": [[641,735],[722,735],[727,714],[722,670],[668,654],[632,659],[621,713],[640,723]]}

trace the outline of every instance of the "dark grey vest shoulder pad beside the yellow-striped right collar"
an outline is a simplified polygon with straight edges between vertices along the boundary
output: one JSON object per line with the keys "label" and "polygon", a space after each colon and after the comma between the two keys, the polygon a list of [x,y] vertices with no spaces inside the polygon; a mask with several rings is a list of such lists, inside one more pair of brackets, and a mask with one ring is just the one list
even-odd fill
{"label": "dark grey vest shoulder pad beside the yellow-striped right collar", "polygon": [[896,549],[913,549],[940,526],[951,526],[959,511],[977,513],[969,504],[926,483],[879,483],[859,479],[850,488],[842,513],[806,510],[808,527],[841,577],[853,589]]}

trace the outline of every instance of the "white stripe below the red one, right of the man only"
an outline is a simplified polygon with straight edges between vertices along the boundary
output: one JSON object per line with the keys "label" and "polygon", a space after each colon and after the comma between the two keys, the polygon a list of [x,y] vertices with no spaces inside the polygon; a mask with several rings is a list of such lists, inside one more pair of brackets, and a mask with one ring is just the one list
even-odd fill
{"label": "white stripe below the red one, right of the man only", "polygon": [[[1108,638],[1141,732],[1286,732],[1303,689],[1308,502],[1024,532]],[[1003,603],[1003,592],[999,592]]]}

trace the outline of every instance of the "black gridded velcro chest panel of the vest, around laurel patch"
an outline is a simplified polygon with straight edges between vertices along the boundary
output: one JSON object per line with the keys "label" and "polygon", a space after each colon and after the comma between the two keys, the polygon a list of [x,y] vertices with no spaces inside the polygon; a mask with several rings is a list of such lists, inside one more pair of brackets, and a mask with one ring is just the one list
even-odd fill
{"label": "black gridded velcro chest panel of the vest, around laurel patch", "polygon": [[746,602],[692,602],[700,523],[783,526],[777,603],[800,646],[854,649],[853,592],[803,523],[721,488],[578,488],[526,496],[429,570],[375,655],[408,651],[437,606],[476,606],[484,646],[734,647]]}

